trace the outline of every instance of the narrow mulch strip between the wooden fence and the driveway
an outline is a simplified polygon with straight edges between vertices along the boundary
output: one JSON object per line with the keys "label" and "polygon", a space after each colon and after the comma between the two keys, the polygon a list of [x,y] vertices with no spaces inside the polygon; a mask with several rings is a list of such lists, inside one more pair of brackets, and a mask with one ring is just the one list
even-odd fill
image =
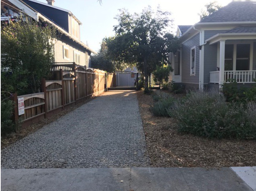
{"label": "narrow mulch strip between the wooden fence and the driveway", "polygon": [[[94,98],[96,98],[96,97],[94,97]],[[71,106],[67,109],[64,109],[55,115],[52,115],[46,119],[39,121],[38,123],[34,123],[33,125],[26,127],[25,129],[22,129],[16,133],[8,134],[6,137],[1,137],[1,150],[4,149],[5,147],[15,143],[16,141],[26,137],[27,135],[37,131],[38,129],[41,129],[43,126],[56,121],[61,116],[68,114],[69,112],[75,110],[76,108],[82,106],[83,104],[90,102],[94,98],[83,100],[82,102],[76,104],[75,106]]]}

